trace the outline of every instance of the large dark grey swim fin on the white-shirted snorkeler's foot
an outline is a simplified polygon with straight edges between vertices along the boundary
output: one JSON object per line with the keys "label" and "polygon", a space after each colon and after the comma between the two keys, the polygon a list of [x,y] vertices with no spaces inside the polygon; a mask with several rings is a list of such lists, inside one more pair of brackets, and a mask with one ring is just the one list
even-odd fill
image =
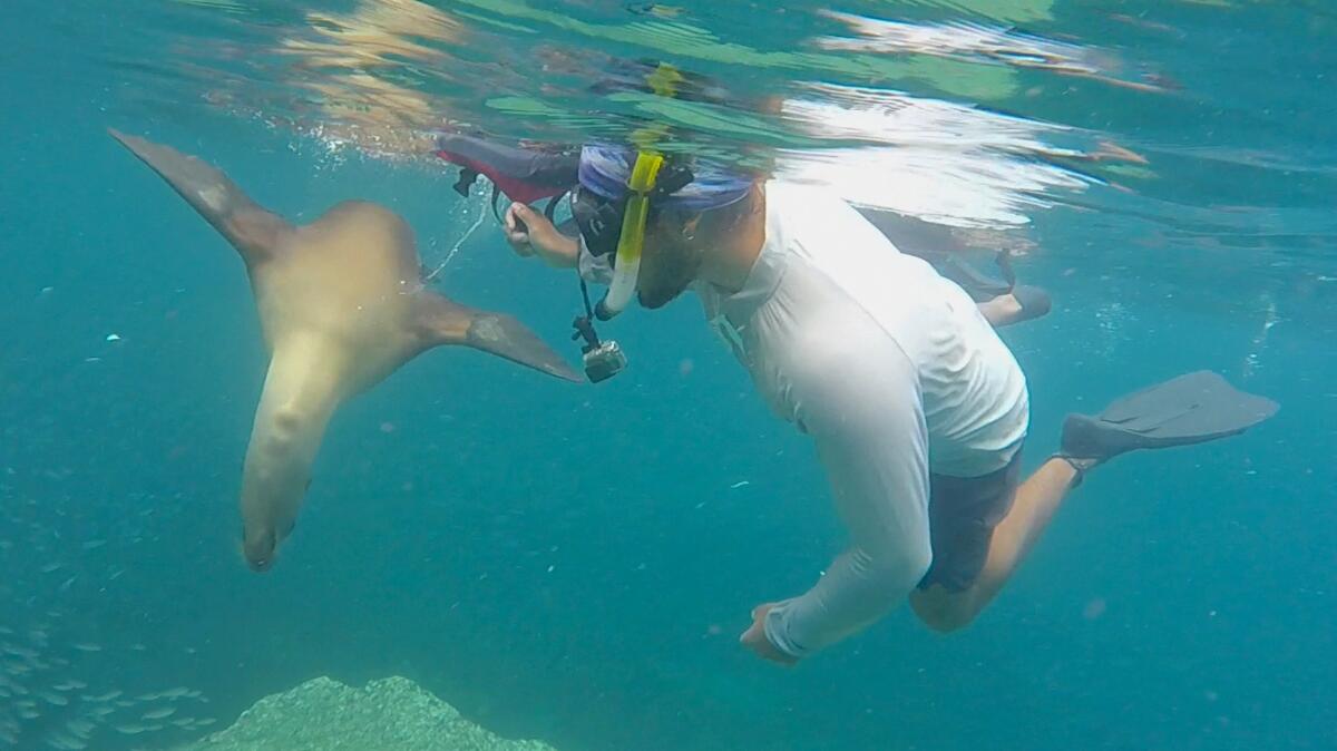
{"label": "large dark grey swim fin on the white-shirted snorkeler's foot", "polygon": [[1070,414],[1060,456],[1100,462],[1135,449],[1215,441],[1243,433],[1277,409],[1277,402],[1199,370],[1128,394],[1095,417]]}

